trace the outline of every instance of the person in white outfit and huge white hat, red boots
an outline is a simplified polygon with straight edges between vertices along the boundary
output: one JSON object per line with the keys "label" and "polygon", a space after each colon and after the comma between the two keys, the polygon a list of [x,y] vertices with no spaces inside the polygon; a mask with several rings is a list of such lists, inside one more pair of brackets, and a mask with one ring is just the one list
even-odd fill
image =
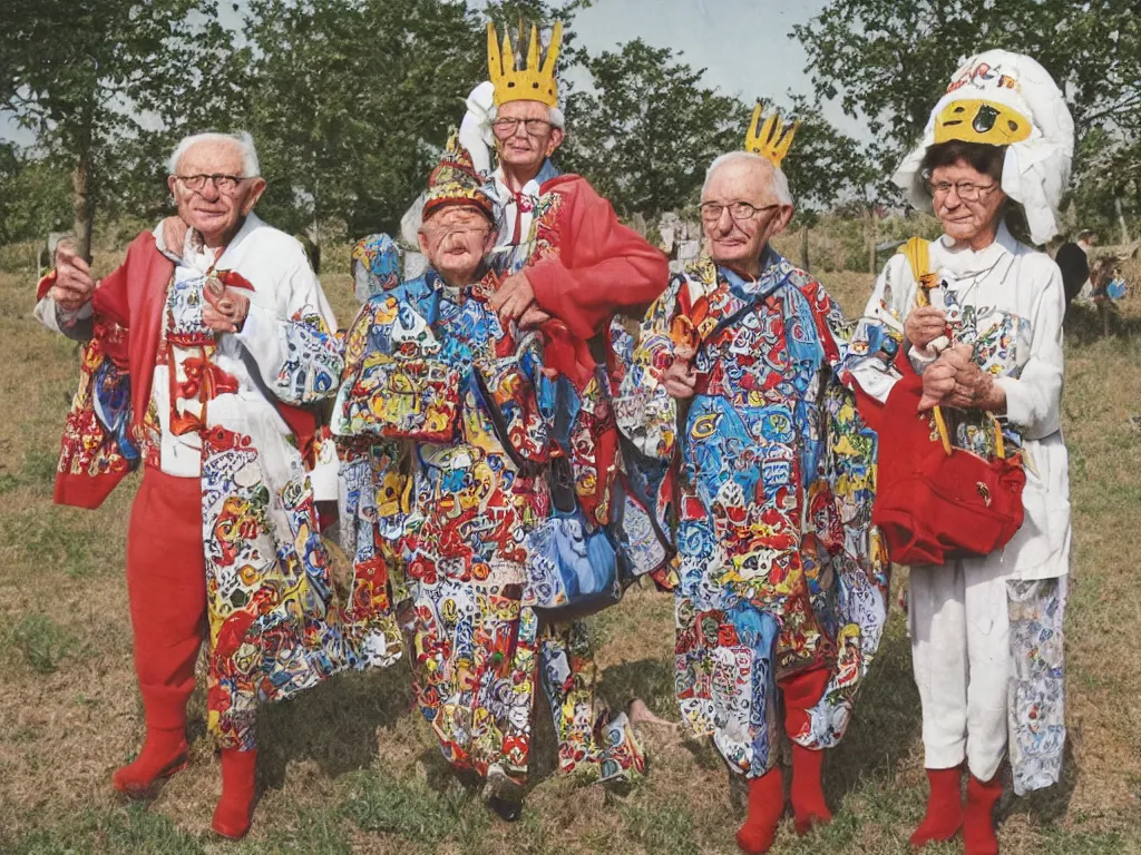
{"label": "person in white outfit and huge white hat, red boots", "polygon": [[[1070,545],[1060,430],[1065,293],[1058,266],[1018,241],[1010,219],[1025,212],[1037,244],[1053,235],[1071,150],[1065,101],[1037,63],[1004,51],[966,63],[896,176],[934,209],[945,234],[930,244],[928,271],[903,255],[888,263],[848,364],[880,401],[901,372],[921,373],[919,409],[940,407],[956,446],[994,457],[994,416],[1005,448],[1025,461],[1025,521],[1013,539],[988,555],[911,570],[930,781],[916,847],[962,828],[969,855],[998,850],[992,814],[1008,743],[1018,792],[1060,772]],[[921,287],[916,272],[933,276]]]}

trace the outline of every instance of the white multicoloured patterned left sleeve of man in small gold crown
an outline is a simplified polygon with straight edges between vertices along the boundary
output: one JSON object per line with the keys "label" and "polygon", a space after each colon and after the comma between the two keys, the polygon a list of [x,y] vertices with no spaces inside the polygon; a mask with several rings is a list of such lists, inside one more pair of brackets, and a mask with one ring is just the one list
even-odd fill
{"label": "white multicoloured patterned left sleeve of man in small gold crown", "polygon": [[665,391],[662,375],[673,363],[670,321],[685,286],[685,277],[675,277],[646,312],[632,364],[614,401],[618,430],[641,454],[664,461],[673,458],[678,442],[678,405]]}

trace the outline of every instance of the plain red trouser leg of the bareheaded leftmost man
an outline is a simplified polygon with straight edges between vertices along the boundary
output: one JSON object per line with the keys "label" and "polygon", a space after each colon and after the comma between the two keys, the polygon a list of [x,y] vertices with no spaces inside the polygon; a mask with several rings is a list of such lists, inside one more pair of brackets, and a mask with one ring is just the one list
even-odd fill
{"label": "plain red trouser leg of the bareheaded leftmost man", "polygon": [[135,673],[147,728],[186,726],[194,662],[205,635],[202,488],[147,466],[127,532]]}

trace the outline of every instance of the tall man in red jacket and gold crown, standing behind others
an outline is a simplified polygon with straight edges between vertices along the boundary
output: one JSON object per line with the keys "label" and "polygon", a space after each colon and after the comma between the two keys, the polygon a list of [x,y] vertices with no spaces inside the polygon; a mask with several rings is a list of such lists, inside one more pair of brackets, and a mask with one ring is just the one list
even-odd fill
{"label": "tall man in red jacket and gold crown, standing behind others", "polygon": [[[605,523],[617,431],[594,355],[610,347],[616,315],[640,318],[663,291],[669,262],[618,222],[610,203],[590,182],[560,174],[551,163],[565,137],[555,74],[560,42],[561,25],[556,24],[541,62],[539,33],[532,28],[524,59],[516,51],[521,44],[504,39],[501,46],[488,26],[491,81],[469,97],[460,141],[475,170],[489,176],[486,189],[495,202],[499,239],[487,264],[499,285],[488,303],[504,329],[537,327],[547,334],[545,367],[573,381],[583,399],[581,412],[591,414],[590,424],[564,451],[583,512]],[[581,747],[590,741],[596,722],[594,667],[585,626],[582,621],[543,625],[539,636],[543,685],[560,743],[559,766],[565,772],[582,768],[588,764],[578,756]],[[632,768],[615,766],[602,774],[618,777],[640,768],[639,760]],[[513,785],[500,780],[494,788],[492,806],[505,820],[520,815],[520,782],[521,774]]]}

